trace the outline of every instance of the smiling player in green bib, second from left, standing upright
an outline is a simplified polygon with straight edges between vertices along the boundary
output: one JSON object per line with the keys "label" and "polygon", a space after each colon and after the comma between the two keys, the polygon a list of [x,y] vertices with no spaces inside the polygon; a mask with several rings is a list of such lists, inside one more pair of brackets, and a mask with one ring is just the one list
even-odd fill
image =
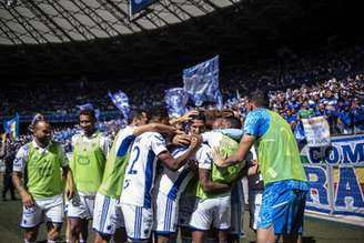
{"label": "smiling player in green bib, second from left, standing upright", "polygon": [[78,200],[71,200],[68,205],[71,243],[87,242],[88,222],[92,219],[94,198],[101,184],[110,144],[109,139],[95,128],[93,110],[80,111],[79,120],[82,133],[72,138],[70,163],[78,190]]}

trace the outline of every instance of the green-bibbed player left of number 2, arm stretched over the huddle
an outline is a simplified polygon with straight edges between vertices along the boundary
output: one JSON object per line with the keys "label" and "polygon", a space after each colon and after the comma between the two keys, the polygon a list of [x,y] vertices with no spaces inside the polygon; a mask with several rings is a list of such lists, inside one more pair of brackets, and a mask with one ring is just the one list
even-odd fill
{"label": "green-bibbed player left of number 2, arm stretched over the huddle", "polygon": [[95,230],[94,243],[125,242],[124,223],[118,201],[122,191],[129,148],[134,139],[144,132],[176,132],[174,128],[158,123],[145,124],[146,113],[133,110],[128,118],[129,125],[119,131],[109,152],[101,185],[95,196],[92,227]]}

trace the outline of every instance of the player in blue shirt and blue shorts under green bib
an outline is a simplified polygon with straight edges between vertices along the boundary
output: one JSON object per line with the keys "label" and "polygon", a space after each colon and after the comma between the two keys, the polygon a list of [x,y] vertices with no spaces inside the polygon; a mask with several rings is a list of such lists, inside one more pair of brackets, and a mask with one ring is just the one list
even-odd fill
{"label": "player in blue shirt and blue shorts under green bib", "polygon": [[250,111],[239,150],[222,159],[214,152],[219,166],[241,163],[255,142],[264,192],[257,222],[257,242],[302,242],[303,215],[309,186],[300,152],[286,121],[267,110],[269,99],[262,91],[249,95]]}

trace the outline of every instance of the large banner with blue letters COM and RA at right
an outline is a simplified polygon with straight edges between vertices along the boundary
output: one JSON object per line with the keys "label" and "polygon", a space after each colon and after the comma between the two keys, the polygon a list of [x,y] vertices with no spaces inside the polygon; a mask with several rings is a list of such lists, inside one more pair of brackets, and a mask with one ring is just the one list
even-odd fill
{"label": "large banner with blue letters COM and RA at right", "polygon": [[364,220],[364,134],[333,136],[302,149],[310,194],[306,210]]}

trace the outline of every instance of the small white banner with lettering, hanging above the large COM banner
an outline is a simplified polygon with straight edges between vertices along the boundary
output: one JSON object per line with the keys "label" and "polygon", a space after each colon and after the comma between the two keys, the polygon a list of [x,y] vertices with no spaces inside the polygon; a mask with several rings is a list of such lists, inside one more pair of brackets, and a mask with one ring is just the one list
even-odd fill
{"label": "small white banner with lettering, hanging above the large COM banner", "polygon": [[309,146],[330,145],[330,126],[323,117],[302,119]]}

